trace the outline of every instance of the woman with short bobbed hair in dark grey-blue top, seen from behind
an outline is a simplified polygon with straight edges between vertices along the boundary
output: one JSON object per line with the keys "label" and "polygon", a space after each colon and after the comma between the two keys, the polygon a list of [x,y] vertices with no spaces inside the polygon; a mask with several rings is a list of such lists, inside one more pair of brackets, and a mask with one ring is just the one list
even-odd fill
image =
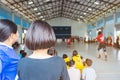
{"label": "woman with short bobbed hair in dark grey-blue top, seen from behind", "polygon": [[55,43],[55,34],[47,22],[36,20],[31,24],[25,44],[33,54],[19,61],[20,80],[70,80],[63,59],[48,54],[48,49]]}

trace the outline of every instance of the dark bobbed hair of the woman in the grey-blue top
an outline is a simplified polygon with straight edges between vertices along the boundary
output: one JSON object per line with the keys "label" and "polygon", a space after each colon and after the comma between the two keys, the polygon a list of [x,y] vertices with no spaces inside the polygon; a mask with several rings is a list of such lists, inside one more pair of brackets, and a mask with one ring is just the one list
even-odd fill
{"label": "dark bobbed hair of the woman in the grey-blue top", "polygon": [[44,21],[34,21],[26,33],[25,44],[30,50],[54,47],[56,37],[52,27]]}

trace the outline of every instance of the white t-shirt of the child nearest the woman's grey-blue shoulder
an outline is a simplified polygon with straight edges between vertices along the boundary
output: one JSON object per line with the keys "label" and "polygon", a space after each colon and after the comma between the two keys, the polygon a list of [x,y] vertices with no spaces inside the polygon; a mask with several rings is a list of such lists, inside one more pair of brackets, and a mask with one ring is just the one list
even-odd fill
{"label": "white t-shirt of the child nearest the woman's grey-blue shoulder", "polygon": [[78,70],[74,67],[70,67],[70,69],[68,69],[68,74],[69,74],[70,80],[80,80],[81,79],[80,70]]}

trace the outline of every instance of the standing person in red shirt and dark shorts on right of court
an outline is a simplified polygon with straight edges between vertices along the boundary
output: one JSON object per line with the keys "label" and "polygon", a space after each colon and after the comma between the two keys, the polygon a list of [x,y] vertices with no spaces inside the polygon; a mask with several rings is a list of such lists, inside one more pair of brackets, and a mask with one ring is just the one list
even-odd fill
{"label": "standing person in red shirt and dark shorts on right of court", "polygon": [[104,41],[104,35],[103,33],[100,31],[98,32],[98,36],[96,37],[96,40],[99,42],[99,46],[98,46],[98,58],[101,58],[101,50],[103,49],[104,55],[105,55],[105,60],[107,60],[107,52],[106,52],[106,44]]}

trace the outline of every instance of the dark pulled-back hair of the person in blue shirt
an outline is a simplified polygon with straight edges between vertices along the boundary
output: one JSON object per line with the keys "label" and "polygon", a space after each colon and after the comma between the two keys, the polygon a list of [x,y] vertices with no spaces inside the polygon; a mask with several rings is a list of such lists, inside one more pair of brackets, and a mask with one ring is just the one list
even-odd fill
{"label": "dark pulled-back hair of the person in blue shirt", "polygon": [[12,33],[17,33],[17,25],[10,20],[0,19],[0,42],[7,40]]}

